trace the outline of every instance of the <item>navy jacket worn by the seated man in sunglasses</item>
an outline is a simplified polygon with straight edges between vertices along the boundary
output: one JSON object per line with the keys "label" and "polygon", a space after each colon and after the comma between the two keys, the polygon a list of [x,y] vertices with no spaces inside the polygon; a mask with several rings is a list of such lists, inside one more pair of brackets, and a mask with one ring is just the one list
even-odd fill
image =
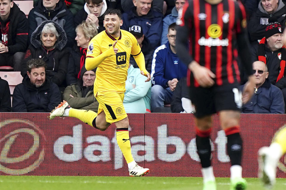
{"label": "navy jacket worn by the seated man in sunglasses", "polygon": [[[241,86],[241,90],[244,85]],[[255,90],[248,103],[242,106],[246,114],[284,114],[285,104],[282,91],[266,78],[261,87]]]}

